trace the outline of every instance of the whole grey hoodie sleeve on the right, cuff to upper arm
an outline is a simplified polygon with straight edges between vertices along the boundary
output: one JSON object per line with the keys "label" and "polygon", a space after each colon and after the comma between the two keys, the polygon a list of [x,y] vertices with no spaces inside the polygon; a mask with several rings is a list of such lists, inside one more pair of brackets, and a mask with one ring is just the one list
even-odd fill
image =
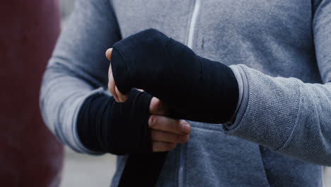
{"label": "whole grey hoodie sleeve on the right, cuff to upper arm", "polygon": [[315,53],[323,84],[269,77],[245,65],[231,68],[242,85],[236,121],[227,134],[313,164],[331,166],[331,1],[313,17]]}

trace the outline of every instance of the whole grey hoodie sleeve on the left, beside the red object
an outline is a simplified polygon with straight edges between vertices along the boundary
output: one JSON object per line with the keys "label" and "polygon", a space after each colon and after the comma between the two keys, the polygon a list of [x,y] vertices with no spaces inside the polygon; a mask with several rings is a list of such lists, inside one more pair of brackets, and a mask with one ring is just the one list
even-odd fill
{"label": "whole grey hoodie sleeve on the left, beside the red object", "polygon": [[83,101],[104,93],[109,62],[105,50],[120,40],[108,0],[77,0],[47,64],[40,109],[47,127],[76,152],[93,154],[81,144],[76,121]]}

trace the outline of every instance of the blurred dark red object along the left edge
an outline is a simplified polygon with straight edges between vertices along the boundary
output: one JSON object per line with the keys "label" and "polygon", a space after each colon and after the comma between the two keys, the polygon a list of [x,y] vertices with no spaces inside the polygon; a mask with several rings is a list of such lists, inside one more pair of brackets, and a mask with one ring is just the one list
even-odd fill
{"label": "blurred dark red object along the left edge", "polygon": [[63,147],[38,104],[59,32],[56,0],[0,1],[0,186],[59,186]]}

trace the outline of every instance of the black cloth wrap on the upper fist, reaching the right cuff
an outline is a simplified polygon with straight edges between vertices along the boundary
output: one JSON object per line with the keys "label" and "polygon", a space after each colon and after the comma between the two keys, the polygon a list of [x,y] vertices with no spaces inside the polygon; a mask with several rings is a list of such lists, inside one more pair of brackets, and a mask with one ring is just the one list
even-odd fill
{"label": "black cloth wrap on the upper fist, reaching the right cuff", "polygon": [[239,91],[232,70],[195,55],[158,30],[116,42],[110,63],[122,94],[144,89],[168,105],[173,118],[226,123],[236,111]]}

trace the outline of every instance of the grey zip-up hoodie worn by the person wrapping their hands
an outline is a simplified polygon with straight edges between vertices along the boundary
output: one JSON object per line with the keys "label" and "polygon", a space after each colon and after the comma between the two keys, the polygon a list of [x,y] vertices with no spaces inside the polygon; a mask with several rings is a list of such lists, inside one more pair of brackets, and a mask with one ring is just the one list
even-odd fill
{"label": "grey zip-up hoodie worn by the person wrapping their hands", "polygon": [[[331,1],[77,0],[42,82],[47,126],[77,152],[83,101],[107,92],[105,50],[156,28],[239,82],[232,125],[190,122],[158,186],[321,186],[331,165]],[[118,157],[116,186],[126,157]]]}

